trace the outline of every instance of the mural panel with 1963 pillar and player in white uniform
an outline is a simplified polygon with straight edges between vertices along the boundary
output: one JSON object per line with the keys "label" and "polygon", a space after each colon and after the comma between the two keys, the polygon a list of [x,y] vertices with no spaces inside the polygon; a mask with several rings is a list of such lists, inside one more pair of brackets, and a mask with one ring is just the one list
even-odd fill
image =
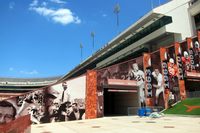
{"label": "mural panel with 1963 pillar and player in white uniform", "polygon": [[[145,55],[144,55],[145,57]],[[160,52],[147,54],[148,59],[144,60],[146,66],[146,90],[147,103],[149,106],[164,107],[165,99],[165,86],[167,85],[167,78],[164,78],[161,69]],[[146,62],[146,63],[145,63]],[[164,82],[164,80],[166,80]]]}

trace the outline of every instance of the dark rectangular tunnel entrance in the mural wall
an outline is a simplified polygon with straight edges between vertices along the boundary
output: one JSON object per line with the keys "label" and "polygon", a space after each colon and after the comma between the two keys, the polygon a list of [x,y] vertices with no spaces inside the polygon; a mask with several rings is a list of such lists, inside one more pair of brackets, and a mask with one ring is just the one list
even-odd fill
{"label": "dark rectangular tunnel entrance in the mural wall", "polygon": [[104,116],[136,114],[138,99],[137,90],[104,88]]}

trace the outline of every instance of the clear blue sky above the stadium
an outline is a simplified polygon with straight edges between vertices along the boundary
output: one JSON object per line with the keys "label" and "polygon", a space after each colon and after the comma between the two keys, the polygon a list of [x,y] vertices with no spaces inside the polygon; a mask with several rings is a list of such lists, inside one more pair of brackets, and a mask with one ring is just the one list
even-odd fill
{"label": "clear blue sky above the stadium", "polygon": [[[64,75],[159,0],[0,0],[0,77]],[[160,0],[164,3],[166,0]],[[119,26],[114,6],[119,3]]]}

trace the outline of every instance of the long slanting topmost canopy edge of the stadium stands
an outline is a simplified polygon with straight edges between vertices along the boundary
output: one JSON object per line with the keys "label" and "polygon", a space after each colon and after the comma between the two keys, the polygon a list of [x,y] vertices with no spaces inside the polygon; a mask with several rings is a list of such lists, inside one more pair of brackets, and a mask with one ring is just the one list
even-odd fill
{"label": "long slanting topmost canopy edge of the stadium stands", "polygon": [[164,15],[159,14],[159,13],[154,13],[153,11],[149,12],[148,14],[140,18],[136,23],[131,25],[129,28],[127,28],[126,30],[121,32],[118,36],[116,36],[114,39],[112,39],[110,42],[108,42],[103,48],[98,50],[95,54],[93,54],[92,56],[87,58],[85,61],[83,61],[81,64],[79,64],[77,67],[72,69],[68,74],[63,76],[60,81],[63,81],[65,79],[72,77],[75,73],[83,70],[86,66],[88,66],[89,64],[92,64],[97,59],[99,59],[100,57],[108,53],[110,50],[120,45],[121,44],[120,42],[122,40],[130,38],[131,36],[141,31],[145,27],[149,26],[150,24],[154,23],[156,20],[160,19],[163,16]]}

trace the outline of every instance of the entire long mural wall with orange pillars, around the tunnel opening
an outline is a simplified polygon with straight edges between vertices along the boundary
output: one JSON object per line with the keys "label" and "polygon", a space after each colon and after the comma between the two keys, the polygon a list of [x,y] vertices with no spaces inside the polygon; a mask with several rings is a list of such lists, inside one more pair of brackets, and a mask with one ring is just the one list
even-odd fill
{"label": "entire long mural wall with orange pillars, around the tunnel opening", "polygon": [[[200,81],[200,32],[198,36],[97,72],[91,71],[92,76],[88,81],[95,82],[87,85],[87,94],[92,97],[88,101],[95,105],[87,105],[92,107],[88,115],[92,118],[102,117],[104,88],[120,85],[131,86],[135,92],[139,92],[141,107],[147,104],[168,108],[178,100],[185,99],[186,91],[197,88]],[[192,86],[189,80],[196,84]],[[33,124],[85,119],[85,91],[84,75],[0,101],[0,124],[27,114],[30,114]],[[95,99],[97,103],[92,102]]]}

